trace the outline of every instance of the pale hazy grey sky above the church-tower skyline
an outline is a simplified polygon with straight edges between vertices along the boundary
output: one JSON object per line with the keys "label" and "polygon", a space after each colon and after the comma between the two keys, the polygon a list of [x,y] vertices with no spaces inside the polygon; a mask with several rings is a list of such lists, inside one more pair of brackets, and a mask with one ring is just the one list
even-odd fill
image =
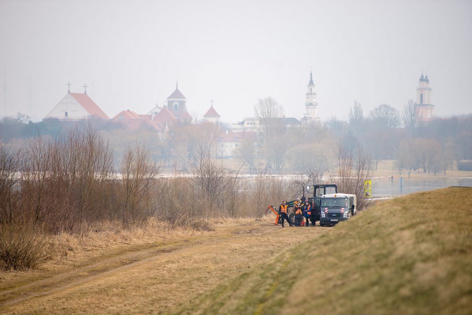
{"label": "pale hazy grey sky above the church-tower skyline", "polygon": [[[42,119],[83,92],[110,117],[146,113],[174,91],[202,116],[254,115],[271,96],[304,112],[313,71],[318,113],[346,119],[416,98],[422,69],[436,114],[472,112],[472,1],[0,0],[0,116]],[[6,90],[6,95],[5,95]]]}

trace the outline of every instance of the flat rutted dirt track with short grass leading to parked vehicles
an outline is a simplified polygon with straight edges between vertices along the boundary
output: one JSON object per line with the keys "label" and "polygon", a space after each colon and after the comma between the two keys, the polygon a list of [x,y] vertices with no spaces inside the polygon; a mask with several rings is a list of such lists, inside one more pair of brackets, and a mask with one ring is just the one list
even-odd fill
{"label": "flat rutted dirt track with short grass leading to parked vehicles", "polygon": [[324,231],[237,223],[4,290],[0,312],[169,312],[283,247]]}

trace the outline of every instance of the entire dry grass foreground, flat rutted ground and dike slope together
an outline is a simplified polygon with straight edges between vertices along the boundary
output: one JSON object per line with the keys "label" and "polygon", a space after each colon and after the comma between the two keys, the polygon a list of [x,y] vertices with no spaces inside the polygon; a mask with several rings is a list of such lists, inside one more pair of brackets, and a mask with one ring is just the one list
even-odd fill
{"label": "entire dry grass foreground, flat rutted ground and dike slope together", "polygon": [[271,222],[60,236],[62,261],[0,273],[0,313],[472,313],[471,188],[384,201],[333,228]]}

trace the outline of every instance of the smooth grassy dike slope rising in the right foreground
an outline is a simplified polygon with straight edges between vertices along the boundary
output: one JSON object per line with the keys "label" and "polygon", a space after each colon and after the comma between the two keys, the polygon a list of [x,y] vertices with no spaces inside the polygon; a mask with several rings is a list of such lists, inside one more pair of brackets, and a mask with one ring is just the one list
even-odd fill
{"label": "smooth grassy dike slope rising in the right foreground", "polygon": [[470,314],[472,188],[379,204],[179,312]]}

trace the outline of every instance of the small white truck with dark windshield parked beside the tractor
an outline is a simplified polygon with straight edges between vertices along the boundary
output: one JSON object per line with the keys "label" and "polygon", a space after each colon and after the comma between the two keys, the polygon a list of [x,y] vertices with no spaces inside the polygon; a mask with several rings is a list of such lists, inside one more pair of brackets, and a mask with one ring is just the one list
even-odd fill
{"label": "small white truck with dark windshield parked beside the tractor", "polygon": [[334,225],[357,214],[356,195],[326,194],[320,198],[320,226]]}

